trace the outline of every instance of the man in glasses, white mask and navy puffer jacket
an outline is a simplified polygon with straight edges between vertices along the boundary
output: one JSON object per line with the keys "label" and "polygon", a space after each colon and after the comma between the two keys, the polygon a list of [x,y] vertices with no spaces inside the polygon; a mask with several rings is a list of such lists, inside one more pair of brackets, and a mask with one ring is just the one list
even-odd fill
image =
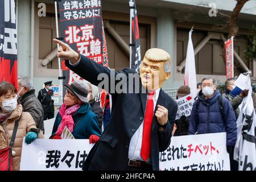
{"label": "man in glasses, white mask and navy puffer jacket", "polygon": [[193,104],[188,134],[207,134],[226,132],[227,151],[232,165],[234,146],[237,141],[236,115],[230,102],[218,92],[216,80],[205,77],[201,81],[202,90]]}

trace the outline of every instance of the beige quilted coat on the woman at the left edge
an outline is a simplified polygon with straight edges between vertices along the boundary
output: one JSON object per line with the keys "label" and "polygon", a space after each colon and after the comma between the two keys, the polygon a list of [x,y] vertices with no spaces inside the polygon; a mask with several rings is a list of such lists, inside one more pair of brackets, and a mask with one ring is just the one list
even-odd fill
{"label": "beige quilted coat on the woman at the left edge", "polygon": [[[20,118],[20,115],[22,117]],[[0,150],[10,146],[11,135],[13,134],[14,123],[20,118],[18,130],[14,140],[13,150],[15,156],[13,156],[13,170],[18,171],[20,167],[20,158],[22,153],[23,137],[30,129],[36,128],[35,121],[31,117],[30,113],[22,112],[22,105],[18,104],[16,109],[11,113],[10,117],[6,119],[6,125],[0,124]],[[4,122],[4,123],[5,123]],[[42,131],[40,131],[39,138],[44,138]]]}

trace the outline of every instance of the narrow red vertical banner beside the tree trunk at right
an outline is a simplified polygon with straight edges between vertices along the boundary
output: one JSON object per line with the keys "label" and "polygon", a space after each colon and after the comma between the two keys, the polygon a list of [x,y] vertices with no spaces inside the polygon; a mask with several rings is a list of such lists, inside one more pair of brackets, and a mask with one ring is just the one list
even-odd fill
{"label": "narrow red vertical banner beside the tree trunk at right", "polygon": [[234,77],[234,40],[232,38],[225,42],[226,78]]}

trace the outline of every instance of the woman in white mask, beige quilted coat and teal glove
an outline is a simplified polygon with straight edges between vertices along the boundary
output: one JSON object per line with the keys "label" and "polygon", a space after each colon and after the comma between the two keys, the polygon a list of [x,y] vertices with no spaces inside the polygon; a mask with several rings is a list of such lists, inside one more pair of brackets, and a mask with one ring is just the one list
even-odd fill
{"label": "woman in white mask, beige quilted coat and teal glove", "polygon": [[35,121],[30,113],[22,112],[22,105],[17,104],[16,89],[9,82],[0,82],[0,150],[9,147],[14,130],[15,121],[18,121],[18,130],[13,146],[13,170],[20,167],[23,137],[30,144],[36,138],[44,138],[42,131],[36,129]]}

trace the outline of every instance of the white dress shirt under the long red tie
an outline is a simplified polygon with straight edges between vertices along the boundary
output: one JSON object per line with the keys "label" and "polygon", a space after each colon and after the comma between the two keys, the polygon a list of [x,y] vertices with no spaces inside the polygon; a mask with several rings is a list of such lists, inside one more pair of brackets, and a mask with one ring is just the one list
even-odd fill
{"label": "white dress shirt under the long red tie", "polygon": [[[156,102],[158,101],[160,88],[155,90],[155,94],[153,96],[154,101],[154,111]],[[148,97],[148,96],[147,96]],[[146,106],[147,108],[147,106]],[[154,115],[153,115],[154,117]],[[144,116],[145,118],[145,116]],[[143,124],[144,120],[141,123],[141,126],[139,126],[139,129],[134,133],[133,137],[131,137],[130,146],[129,146],[129,152],[128,152],[128,158],[133,160],[141,160],[143,161],[141,157],[141,146],[142,146],[142,136],[143,136]],[[151,163],[151,156],[146,160],[147,163]]]}

